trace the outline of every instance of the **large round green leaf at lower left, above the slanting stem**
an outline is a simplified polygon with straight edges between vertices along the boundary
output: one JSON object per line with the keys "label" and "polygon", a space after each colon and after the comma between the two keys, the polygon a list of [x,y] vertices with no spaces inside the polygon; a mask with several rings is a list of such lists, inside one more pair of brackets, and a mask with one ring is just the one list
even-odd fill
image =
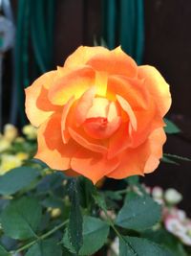
{"label": "large round green leaf at lower left, above the slanting stem", "polygon": [[5,208],[1,224],[7,236],[25,240],[36,236],[41,216],[42,209],[35,198],[19,198]]}

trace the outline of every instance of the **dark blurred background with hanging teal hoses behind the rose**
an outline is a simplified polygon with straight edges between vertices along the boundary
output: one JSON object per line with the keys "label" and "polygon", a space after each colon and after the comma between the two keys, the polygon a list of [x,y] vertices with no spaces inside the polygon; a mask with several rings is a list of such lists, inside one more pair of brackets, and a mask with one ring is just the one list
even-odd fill
{"label": "dark blurred background with hanging teal hoses behind the rose", "polygon": [[[1,129],[28,122],[24,88],[63,65],[79,45],[121,45],[138,64],[156,66],[171,85],[168,118],[181,132],[169,135],[164,151],[191,156],[190,0],[1,0],[0,12]],[[161,163],[143,182],[178,189],[191,215],[190,163]]]}

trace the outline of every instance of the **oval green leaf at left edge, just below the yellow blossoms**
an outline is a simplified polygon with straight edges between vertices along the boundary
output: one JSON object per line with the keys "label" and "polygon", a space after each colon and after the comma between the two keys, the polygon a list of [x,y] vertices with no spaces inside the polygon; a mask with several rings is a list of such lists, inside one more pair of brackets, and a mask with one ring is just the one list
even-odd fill
{"label": "oval green leaf at left edge, just below the yellow blossoms", "polygon": [[12,169],[6,175],[0,176],[0,195],[12,195],[27,187],[39,175],[39,172],[31,167],[19,167]]}

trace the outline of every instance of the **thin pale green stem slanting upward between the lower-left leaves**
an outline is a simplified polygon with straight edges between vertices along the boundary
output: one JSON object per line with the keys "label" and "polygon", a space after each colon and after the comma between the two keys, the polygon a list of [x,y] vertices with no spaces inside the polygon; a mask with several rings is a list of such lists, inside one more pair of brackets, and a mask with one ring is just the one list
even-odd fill
{"label": "thin pale green stem slanting upward between the lower-left leaves", "polygon": [[51,229],[50,231],[48,231],[47,233],[43,234],[42,236],[40,236],[38,239],[33,240],[31,243],[29,244],[25,244],[22,247],[18,248],[15,251],[11,251],[12,254],[18,253],[20,251],[23,251],[25,249],[28,249],[29,247],[31,247],[33,244],[36,244],[37,242],[44,240],[46,238],[48,238],[49,236],[51,236],[54,232],[56,232],[58,229],[60,229],[61,227],[63,227],[64,225],[66,225],[68,223],[67,221],[64,221],[62,223],[60,223],[59,225],[56,225],[55,227],[53,227],[53,229]]}

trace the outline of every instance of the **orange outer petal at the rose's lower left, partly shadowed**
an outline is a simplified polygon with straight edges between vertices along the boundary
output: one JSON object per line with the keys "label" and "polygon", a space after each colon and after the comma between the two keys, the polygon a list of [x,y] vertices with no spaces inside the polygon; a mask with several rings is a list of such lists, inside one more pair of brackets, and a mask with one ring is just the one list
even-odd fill
{"label": "orange outer petal at the rose's lower left, partly shadowed", "polygon": [[44,161],[55,170],[67,170],[71,168],[71,158],[78,146],[74,140],[63,144],[60,126],[61,115],[53,114],[38,128],[38,151],[34,157]]}

